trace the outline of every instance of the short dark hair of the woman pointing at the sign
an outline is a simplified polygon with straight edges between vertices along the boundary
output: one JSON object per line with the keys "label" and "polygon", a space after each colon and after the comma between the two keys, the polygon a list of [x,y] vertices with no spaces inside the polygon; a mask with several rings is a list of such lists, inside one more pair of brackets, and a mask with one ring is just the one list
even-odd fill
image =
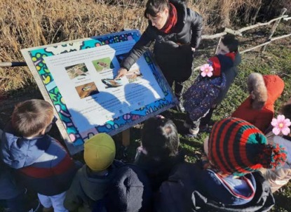
{"label": "short dark hair of the woman pointing at the sign", "polygon": [[170,9],[168,0],[149,0],[147,1],[146,9],[144,11],[144,18],[149,18],[148,15],[156,17],[156,15],[165,8]]}

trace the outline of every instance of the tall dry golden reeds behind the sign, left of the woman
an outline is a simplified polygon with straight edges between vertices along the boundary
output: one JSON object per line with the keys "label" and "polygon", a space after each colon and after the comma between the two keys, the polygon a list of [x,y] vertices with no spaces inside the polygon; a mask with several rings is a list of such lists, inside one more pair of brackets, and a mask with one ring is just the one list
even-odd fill
{"label": "tall dry golden reeds behind the sign, left of the woman", "polygon": [[[134,5],[134,4],[131,4]],[[1,61],[22,61],[21,48],[120,31],[144,30],[143,8],[95,1],[0,1]],[[27,67],[0,68],[0,89],[15,90],[32,79]]]}

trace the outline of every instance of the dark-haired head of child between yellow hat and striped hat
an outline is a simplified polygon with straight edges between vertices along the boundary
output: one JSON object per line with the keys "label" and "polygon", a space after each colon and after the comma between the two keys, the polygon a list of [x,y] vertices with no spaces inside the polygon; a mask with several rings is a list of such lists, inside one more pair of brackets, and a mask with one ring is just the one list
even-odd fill
{"label": "dark-haired head of child between yellow hat and striped hat", "polygon": [[147,150],[149,157],[175,156],[179,144],[177,127],[172,120],[154,117],[144,122],[142,146]]}

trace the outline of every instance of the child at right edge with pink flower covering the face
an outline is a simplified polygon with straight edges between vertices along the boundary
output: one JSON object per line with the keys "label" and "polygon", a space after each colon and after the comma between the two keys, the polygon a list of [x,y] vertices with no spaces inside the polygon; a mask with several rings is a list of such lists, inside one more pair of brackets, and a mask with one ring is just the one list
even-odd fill
{"label": "child at right edge with pink flower covering the face", "polygon": [[276,192],[283,185],[286,185],[291,179],[291,98],[283,107],[277,119],[273,119],[271,125],[273,131],[266,135],[268,143],[276,143],[285,148],[287,152],[287,161],[285,166],[275,170],[262,169],[264,178],[269,181],[272,192]]}

